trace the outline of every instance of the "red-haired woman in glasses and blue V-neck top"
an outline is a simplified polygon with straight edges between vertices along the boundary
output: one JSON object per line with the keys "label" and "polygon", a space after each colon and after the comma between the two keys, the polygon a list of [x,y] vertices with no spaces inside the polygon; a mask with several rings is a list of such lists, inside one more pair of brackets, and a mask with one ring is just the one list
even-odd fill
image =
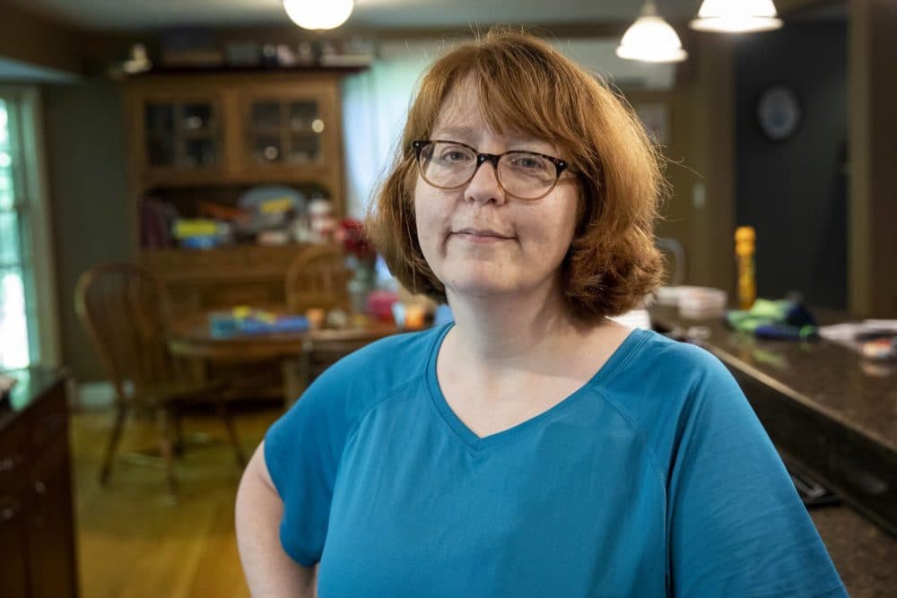
{"label": "red-haired woman in glasses and blue V-neck top", "polygon": [[658,285],[659,164],[542,41],[431,66],[369,225],[455,323],[347,357],[269,430],[237,501],[254,595],[845,595],[726,368],[608,319]]}

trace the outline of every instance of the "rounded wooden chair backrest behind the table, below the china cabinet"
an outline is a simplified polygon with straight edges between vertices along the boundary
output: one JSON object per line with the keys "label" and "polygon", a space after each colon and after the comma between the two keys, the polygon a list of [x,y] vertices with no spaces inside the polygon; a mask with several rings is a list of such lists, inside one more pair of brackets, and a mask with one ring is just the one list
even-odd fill
{"label": "rounded wooden chair backrest behind the table, below the china cabinet", "polygon": [[302,314],[309,308],[348,308],[352,271],[345,267],[344,259],[342,248],[335,245],[303,249],[286,272],[290,311]]}

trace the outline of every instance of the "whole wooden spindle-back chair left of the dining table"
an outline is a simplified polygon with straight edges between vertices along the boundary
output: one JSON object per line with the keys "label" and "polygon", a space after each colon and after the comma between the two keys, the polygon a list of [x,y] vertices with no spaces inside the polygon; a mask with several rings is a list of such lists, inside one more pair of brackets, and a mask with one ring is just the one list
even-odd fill
{"label": "whole wooden spindle-back chair left of the dining table", "polygon": [[204,401],[214,403],[237,463],[245,466],[225,403],[226,381],[197,381],[190,376],[187,364],[170,354],[165,295],[152,273],[132,264],[91,268],[78,281],[75,311],[115,388],[116,420],[100,468],[100,484],[109,481],[128,412],[151,412],[159,428],[169,490],[175,493],[174,454],[182,447],[179,414],[187,404]]}

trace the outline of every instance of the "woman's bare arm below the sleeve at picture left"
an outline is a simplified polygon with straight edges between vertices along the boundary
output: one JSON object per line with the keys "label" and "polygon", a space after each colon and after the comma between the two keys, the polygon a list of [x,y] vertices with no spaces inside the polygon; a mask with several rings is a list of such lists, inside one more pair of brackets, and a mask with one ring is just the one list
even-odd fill
{"label": "woman's bare arm below the sleeve at picture left", "polygon": [[315,568],[302,567],[280,542],[283,501],[265,463],[265,443],[249,460],[237,490],[237,546],[253,596],[315,596]]}

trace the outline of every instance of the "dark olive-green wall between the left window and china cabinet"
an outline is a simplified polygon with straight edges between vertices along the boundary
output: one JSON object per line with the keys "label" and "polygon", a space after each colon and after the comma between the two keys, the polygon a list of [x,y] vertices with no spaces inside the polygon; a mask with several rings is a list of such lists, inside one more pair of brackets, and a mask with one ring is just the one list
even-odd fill
{"label": "dark olive-green wall between the left window and china cabinet", "polygon": [[80,380],[102,379],[74,314],[74,286],[94,264],[135,256],[121,93],[113,83],[85,80],[47,86],[43,98],[63,360]]}

